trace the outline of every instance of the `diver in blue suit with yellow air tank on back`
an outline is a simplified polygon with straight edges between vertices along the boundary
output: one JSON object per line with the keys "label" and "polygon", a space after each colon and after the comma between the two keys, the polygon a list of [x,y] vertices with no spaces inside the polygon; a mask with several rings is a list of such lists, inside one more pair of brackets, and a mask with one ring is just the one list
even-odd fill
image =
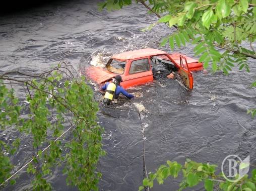
{"label": "diver in blue suit with yellow air tank on back", "polygon": [[106,82],[105,85],[101,87],[102,90],[106,90],[103,103],[109,106],[111,102],[117,103],[117,98],[120,93],[123,94],[126,98],[131,100],[135,96],[133,94],[128,93],[124,90],[123,87],[120,86],[120,82],[122,81],[122,77],[120,75],[116,75],[115,78],[113,78],[112,82]]}

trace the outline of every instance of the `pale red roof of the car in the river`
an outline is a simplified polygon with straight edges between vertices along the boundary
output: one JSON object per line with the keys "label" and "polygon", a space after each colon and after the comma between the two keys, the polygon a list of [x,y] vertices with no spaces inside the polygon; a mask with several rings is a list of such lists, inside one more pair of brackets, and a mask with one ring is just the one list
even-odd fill
{"label": "pale red roof of the car in the river", "polygon": [[129,52],[123,52],[120,54],[115,54],[112,58],[117,60],[131,60],[135,58],[142,58],[146,56],[152,56],[157,54],[167,54],[166,52],[154,48],[144,48],[139,50],[133,50]]}

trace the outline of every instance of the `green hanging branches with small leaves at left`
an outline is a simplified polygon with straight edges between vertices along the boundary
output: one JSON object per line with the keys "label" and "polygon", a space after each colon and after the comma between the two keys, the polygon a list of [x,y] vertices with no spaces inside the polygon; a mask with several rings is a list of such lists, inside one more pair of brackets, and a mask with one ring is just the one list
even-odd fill
{"label": "green hanging branches with small leaves at left", "polygon": [[[12,78],[20,74],[23,79]],[[101,149],[103,129],[97,125],[98,105],[93,100],[93,91],[85,79],[76,79],[65,63],[40,75],[25,74],[19,71],[0,75],[0,126],[2,130],[16,128],[21,134],[33,138],[33,163],[27,172],[34,175],[34,190],[50,190],[47,176],[57,165],[65,165],[63,173],[67,174],[67,183],[76,185],[80,190],[97,190],[101,174],[96,167],[99,157],[104,154]],[[5,81],[3,81],[5,80]],[[14,95],[13,88],[4,83],[19,83],[26,93],[26,106]],[[21,111],[28,113],[21,115]],[[63,133],[64,127],[74,126],[71,140],[61,143],[56,140]],[[54,141],[55,140],[55,141]],[[45,152],[46,147],[50,147]],[[15,153],[19,139],[12,145],[0,142],[0,183],[10,177],[13,165],[4,150]],[[7,152],[7,151],[5,151]],[[15,183],[12,180],[11,183]]]}

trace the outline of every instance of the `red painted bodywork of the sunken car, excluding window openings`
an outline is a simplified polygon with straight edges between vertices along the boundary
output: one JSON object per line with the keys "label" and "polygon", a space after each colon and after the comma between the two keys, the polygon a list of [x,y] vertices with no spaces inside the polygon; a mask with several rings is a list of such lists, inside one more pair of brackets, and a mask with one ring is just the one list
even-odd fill
{"label": "red painted bodywork of the sunken car, excluding window openings", "polygon": [[[111,59],[126,60],[123,74],[119,74],[122,77],[120,85],[123,88],[128,88],[135,85],[145,84],[153,81],[153,72],[150,59],[156,56],[157,58],[172,62],[177,68],[177,72],[181,75],[184,85],[192,89],[193,88],[193,75],[190,71],[198,71],[203,69],[203,64],[198,60],[187,57],[179,53],[168,54],[162,50],[157,49],[140,49],[130,52],[124,52],[113,55]],[[148,59],[150,69],[148,71],[138,72],[130,74],[129,70],[133,61],[140,59]],[[108,71],[106,68],[91,66],[86,69],[85,75],[94,80],[98,84],[102,84],[106,81],[110,81],[116,73]]]}

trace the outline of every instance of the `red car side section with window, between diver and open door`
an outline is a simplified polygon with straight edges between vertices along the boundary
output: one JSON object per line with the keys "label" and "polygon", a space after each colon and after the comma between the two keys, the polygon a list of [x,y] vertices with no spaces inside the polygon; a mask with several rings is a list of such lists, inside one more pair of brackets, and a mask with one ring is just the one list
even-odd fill
{"label": "red car side section with window, between diver and open door", "polygon": [[123,86],[130,87],[153,81],[153,73],[147,57],[131,60],[129,65],[130,67],[127,68],[127,73],[121,83]]}

